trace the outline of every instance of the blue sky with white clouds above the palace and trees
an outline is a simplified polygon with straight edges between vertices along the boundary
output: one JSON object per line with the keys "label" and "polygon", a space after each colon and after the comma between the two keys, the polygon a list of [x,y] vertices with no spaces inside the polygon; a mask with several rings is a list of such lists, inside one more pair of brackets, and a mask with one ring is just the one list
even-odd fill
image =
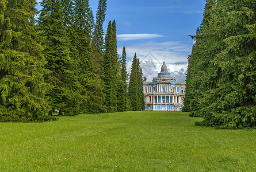
{"label": "blue sky with white clouds above the palace and trees", "polygon": [[[95,15],[98,0],[89,0],[89,4]],[[147,81],[157,76],[163,61],[171,76],[185,81],[193,45],[188,35],[200,26],[204,5],[204,0],[107,0],[104,32],[115,19],[118,53],[121,57],[125,46],[128,72],[136,53]]]}

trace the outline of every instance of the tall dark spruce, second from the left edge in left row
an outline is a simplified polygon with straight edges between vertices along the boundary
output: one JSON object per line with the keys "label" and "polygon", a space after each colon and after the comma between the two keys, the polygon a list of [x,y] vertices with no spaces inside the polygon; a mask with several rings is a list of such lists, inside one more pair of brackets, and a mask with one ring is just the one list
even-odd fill
{"label": "tall dark spruce, second from the left edge in left row", "polygon": [[60,0],[43,0],[41,2],[39,27],[44,37],[43,54],[47,60],[45,68],[51,73],[46,76],[47,83],[52,85],[47,93],[53,109],[59,109],[65,115],[79,114],[80,85],[75,71],[76,64],[70,57],[70,40],[63,25],[63,9]]}

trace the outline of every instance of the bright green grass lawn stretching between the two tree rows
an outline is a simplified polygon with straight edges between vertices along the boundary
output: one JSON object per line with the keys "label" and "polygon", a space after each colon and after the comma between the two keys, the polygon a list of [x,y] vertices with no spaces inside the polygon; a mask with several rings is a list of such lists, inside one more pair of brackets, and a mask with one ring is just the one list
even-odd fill
{"label": "bright green grass lawn stretching between the two tree rows", "polygon": [[0,123],[0,171],[256,171],[256,130],[200,120],[143,111]]}

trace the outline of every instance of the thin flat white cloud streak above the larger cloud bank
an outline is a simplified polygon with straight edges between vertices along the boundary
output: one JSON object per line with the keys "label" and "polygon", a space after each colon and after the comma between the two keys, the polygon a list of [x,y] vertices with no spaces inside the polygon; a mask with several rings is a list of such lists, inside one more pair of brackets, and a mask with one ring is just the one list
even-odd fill
{"label": "thin flat white cloud streak above the larger cloud bank", "polygon": [[132,40],[148,40],[152,38],[163,37],[161,34],[137,33],[137,34],[118,34],[117,41],[132,41]]}

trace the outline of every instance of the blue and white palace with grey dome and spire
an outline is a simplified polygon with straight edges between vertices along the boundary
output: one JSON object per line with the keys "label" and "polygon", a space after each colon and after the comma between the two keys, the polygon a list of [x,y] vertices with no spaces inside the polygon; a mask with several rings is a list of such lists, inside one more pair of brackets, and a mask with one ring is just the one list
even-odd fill
{"label": "blue and white palace with grey dome and spire", "polygon": [[163,62],[158,77],[152,82],[143,83],[145,110],[150,111],[181,111],[184,105],[185,83],[179,83],[171,77]]}

